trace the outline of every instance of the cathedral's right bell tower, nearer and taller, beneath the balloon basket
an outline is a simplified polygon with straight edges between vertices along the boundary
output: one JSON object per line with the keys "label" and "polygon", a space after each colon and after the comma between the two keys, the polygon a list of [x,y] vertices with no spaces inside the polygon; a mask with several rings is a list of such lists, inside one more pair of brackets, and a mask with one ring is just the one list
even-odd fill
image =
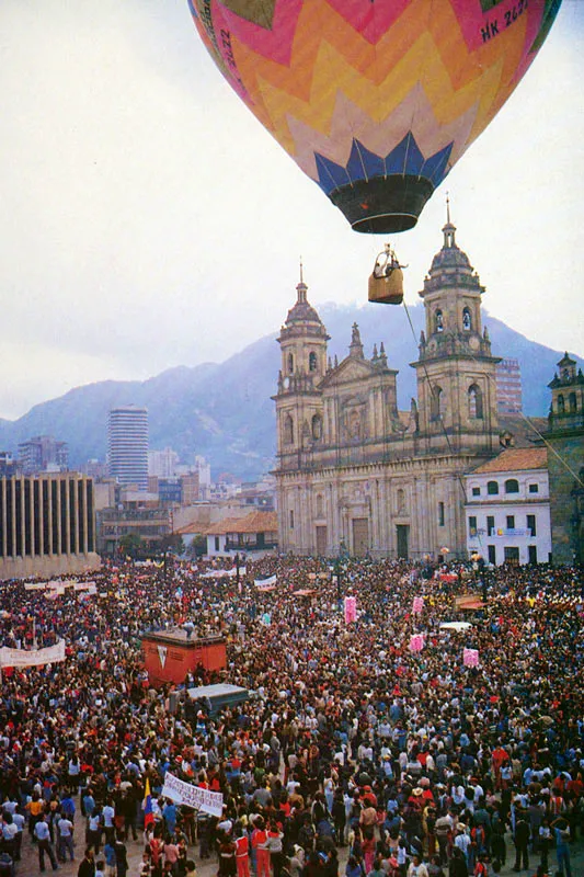
{"label": "cathedral's right bell tower, nearer and taller, beneath the balloon basket", "polygon": [[482,328],[481,286],[456,243],[447,202],[442,250],[432,261],[424,288],[426,328],[420,338],[417,373],[420,429],[431,451],[492,454],[499,449],[495,368]]}

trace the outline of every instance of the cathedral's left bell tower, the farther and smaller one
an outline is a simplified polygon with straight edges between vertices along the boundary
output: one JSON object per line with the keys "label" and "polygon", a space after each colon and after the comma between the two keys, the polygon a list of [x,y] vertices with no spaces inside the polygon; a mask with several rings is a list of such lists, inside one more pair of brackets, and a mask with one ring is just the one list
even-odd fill
{"label": "cathedral's left bell tower, the farther and smaller one", "polygon": [[298,452],[323,438],[322,394],[329,335],[307,299],[300,265],[296,304],[277,339],[282,352],[276,402],[278,468],[298,464]]}

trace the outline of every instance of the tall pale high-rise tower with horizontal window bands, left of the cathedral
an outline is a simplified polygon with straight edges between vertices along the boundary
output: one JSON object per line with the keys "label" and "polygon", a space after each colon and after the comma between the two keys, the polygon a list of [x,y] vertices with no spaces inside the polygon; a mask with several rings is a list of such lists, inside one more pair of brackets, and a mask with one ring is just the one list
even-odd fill
{"label": "tall pale high-rise tower with horizontal window bands, left of the cathedral", "polygon": [[110,411],[107,424],[110,476],[121,485],[148,490],[148,411],[123,406]]}

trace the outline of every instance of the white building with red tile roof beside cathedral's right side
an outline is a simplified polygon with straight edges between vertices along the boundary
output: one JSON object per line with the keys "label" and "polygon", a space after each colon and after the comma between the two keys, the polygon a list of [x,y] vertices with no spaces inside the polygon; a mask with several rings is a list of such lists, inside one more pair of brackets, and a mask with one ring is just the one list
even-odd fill
{"label": "white building with red tile roof beside cathedral's right side", "polygon": [[503,451],[465,476],[467,549],[485,562],[547,563],[551,555],[548,452]]}

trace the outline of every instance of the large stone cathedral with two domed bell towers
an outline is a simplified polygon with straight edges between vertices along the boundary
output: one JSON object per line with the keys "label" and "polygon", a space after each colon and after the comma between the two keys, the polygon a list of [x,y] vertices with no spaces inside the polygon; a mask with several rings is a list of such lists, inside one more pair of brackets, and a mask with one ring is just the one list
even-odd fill
{"label": "large stone cathedral with two domed bell towers", "polygon": [[500,358],[482,326],[484,287],[449,215],[443,234],[420,292],[425,331],[411,364],[417,400],[406,412],[383,345],[368,358],[357,324],[348,355],[331,362],[300,278],[277,339],[280,551],[466,557],[462,476],[499,454],[509,433],[497,417]]}

